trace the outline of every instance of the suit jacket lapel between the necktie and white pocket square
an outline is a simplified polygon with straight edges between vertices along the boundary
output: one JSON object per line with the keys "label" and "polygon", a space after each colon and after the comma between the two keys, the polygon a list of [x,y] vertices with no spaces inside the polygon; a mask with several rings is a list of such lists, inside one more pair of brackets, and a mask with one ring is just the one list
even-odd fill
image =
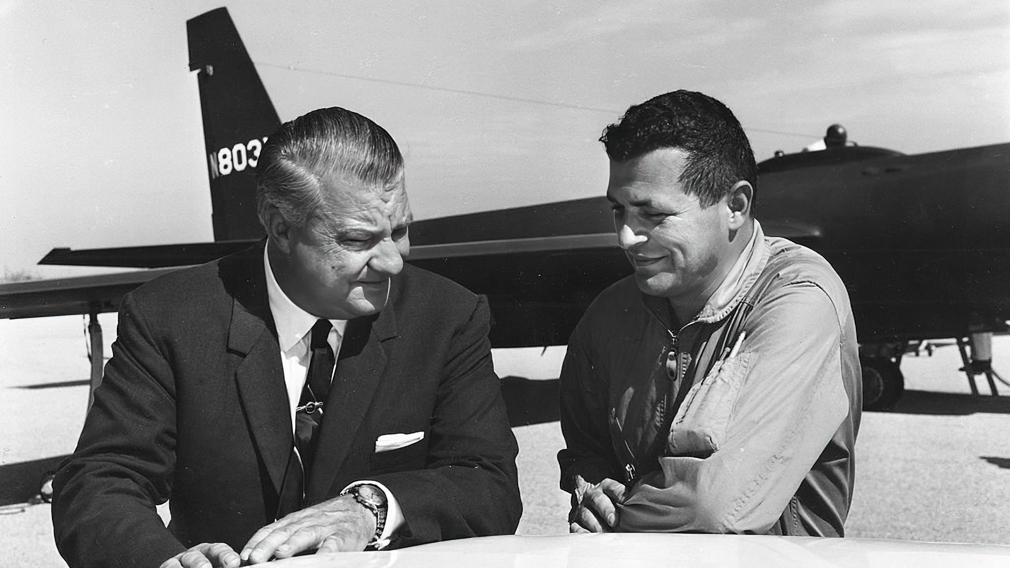
{"label": "suit jacket lapel between the necktie and white pocket square", "polygon": [[392,301],[378,315],[347,322],[319,430],[306,502],[323,500],[350,452],[386,369],[384,342],[397,337]]}

